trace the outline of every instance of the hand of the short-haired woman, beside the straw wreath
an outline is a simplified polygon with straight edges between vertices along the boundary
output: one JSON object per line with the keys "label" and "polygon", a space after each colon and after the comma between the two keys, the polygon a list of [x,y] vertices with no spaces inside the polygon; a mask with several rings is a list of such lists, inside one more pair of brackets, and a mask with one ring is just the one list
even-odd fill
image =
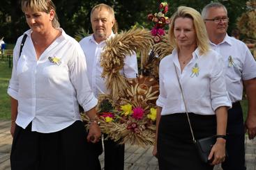
{"label": "hand of the short-haired woman, beside the straw wreath", "polygon": [[89,127],[89,133],[87,135],[87,142],[96,143],[100,140],[101,133],[100,127],[96,122],[92,122]]}

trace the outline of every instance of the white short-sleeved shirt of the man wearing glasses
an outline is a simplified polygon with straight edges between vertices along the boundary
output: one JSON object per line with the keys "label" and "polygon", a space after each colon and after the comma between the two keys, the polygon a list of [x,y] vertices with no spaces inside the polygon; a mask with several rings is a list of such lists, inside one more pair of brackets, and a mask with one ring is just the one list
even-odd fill
{"label": "white short-sleeved shirt of the man wearing glasses", "polygon": [[240,40],[225,36],[223,42],[211,47],[223,56],[227,92],[232,103],[241,101],[243,97],[243,80],[256,77],[256,62],[250,50]]}

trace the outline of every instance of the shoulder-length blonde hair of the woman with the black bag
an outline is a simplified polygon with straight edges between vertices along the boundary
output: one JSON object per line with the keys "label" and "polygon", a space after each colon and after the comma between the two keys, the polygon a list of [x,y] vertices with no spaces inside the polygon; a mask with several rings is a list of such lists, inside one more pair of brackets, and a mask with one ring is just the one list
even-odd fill
{"label": "shoulder-length blonde hair of the woman with the black bag", "polygon": [[204,20],[202,19],[201,15],[197,10],[186,7],[186,6],[180,6],[178,10],[172,15],[172,22],[170,24],[170,28],[168,31],[168,37],[170,40],[171,46],[176,47],[176,49],[179,51],[179,46],[176,44],[176,40],[174,37],[174,23],[175,20],[179,17],[182,18],[190,18],[193,20],[193,25],[195,28],[196,33],[196,42],[197,47],[199,48],[200,55],[205,54],[209,51],[209,38],[206,32],[206,28],[204,25]]}

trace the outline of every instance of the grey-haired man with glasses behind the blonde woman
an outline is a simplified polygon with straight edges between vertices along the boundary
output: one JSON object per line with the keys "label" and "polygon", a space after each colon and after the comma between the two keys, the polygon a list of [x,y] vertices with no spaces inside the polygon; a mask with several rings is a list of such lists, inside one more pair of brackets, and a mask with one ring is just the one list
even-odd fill
{"label": "grey-haired man with glasses behind the blonde woman", "polygon": [[[227,35],[229,19],[227,9],[221,3],[209,3],[202,10],[206,30],[213,49],[223,56],[226,71],[227,92],[232,101],[227,120],[227,152],[224,170],[242,170],[245,167],[244,135],[249,139],[256,135],[256,62],[250,50],[240,40]],[[243,126],[241,101],[243,85],[248,98],[248,114]]]}

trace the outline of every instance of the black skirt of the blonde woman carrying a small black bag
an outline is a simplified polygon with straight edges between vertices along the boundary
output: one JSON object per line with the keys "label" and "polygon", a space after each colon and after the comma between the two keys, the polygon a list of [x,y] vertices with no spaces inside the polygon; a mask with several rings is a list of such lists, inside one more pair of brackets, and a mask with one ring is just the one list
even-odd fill
{"label": "black skirt of the blonde woman carrying a small black bag", "polygon": [[[216,134],[216,115],[189,113],[189,117],[195,139]],[[213,169],[197,155],[186,113],[161,116],[157,148],[160,170]]]}

